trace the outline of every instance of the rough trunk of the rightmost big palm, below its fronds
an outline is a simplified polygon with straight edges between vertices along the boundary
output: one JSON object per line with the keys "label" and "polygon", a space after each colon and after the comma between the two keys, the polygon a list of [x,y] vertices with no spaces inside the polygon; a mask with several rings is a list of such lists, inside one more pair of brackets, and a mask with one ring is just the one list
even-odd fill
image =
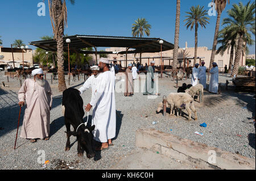
{"label": "rough trunk of the rightmost big palm, below its fronds", "polygon": [[232,70],[231,77],[234,77],[234,75],[237,75],[238,73],[242,51],[243,51],[243,35],[240,34],[238,44],[237,44],[236,56],[234,59],[234,68]]}

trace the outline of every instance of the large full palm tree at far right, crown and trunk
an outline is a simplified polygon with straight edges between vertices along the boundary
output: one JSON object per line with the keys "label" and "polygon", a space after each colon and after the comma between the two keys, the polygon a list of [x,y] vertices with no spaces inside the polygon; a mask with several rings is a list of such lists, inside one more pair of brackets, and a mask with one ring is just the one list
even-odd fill
{"label": "large full palm tree at far right, crown and trunk", "polygon": [[[238,35],[238,44],[236,50],[236,56],[234,59],[234,68],[231,74],[233,77],[238,73],[238,68],[241,60],[242,51],[245,47],[246,37],[251,37],[250,32],[254,33],[253,28],[255,27],[255,2],[250,1],[243,6],[240,2],[239,5],[234,4],[232,9],[228,10],[230,18],[224,18],[223,23],[227,25],[228,31],[236,32]],[[249,42],[250,43],[250,42]]]}

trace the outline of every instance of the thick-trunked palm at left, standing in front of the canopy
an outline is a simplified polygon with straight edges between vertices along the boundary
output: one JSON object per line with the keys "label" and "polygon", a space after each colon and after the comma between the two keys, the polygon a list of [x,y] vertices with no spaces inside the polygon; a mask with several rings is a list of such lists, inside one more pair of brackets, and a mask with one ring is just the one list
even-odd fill
{"label": "thick-trunked palm at left, standing in front of the canopy", "polygon": [[[75,4],[75,0],[69,0]],[[63,36],[64,27],[67,26],[67,6],[65,0],[48,0],[49,15],[52,23],[54,38],[57,42],[57,66],[59,77],[59,91],[67,89],[64,74]]]}

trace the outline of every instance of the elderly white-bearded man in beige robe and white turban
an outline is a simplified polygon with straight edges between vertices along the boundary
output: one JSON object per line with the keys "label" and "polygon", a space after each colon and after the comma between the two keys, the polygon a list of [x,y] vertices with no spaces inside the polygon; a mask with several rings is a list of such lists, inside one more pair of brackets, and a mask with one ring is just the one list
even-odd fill
{"label": "elderly white-bearded man in beige robe and white turban", "polygon": [[49,140],[50,110],[52,106],[52,90],[49,83],[44,80],[41,68],[32,71],[33,78],[27,78],[18,92],[19,106],[26,110],[20,137],[36,142],[36,139]]}

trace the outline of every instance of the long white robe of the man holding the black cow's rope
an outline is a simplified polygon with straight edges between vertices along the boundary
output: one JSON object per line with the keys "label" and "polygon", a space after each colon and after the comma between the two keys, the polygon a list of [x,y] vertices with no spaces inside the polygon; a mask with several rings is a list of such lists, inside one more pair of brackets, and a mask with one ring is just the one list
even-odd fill
{"label": "long white robe of the man holding the black cow's rope", "polygon": [[115,137],[115,91],[114,75],[111,71],[105,71],[97,77],[97,88],[90,105],[95,107],[92,115],[94,140],[108,142]]}

